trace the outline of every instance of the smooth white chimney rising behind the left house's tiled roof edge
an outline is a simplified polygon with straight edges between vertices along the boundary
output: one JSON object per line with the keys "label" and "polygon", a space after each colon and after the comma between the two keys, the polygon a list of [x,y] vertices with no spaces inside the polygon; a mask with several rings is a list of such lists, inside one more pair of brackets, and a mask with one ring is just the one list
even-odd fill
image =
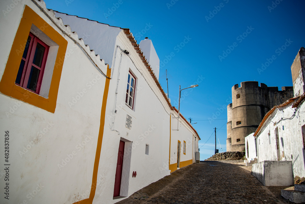
{"label": "smooth white chimney rising behind the left house's tiled roof edge", "polygon": [[145,40],[141,40],[139,47],[147,59],[148,64],[152,68],[152,71],[155,73],[157,79],[159,80],[160,59],[156,53],[154,46],[152,45],[152,41],[146,37]]}

